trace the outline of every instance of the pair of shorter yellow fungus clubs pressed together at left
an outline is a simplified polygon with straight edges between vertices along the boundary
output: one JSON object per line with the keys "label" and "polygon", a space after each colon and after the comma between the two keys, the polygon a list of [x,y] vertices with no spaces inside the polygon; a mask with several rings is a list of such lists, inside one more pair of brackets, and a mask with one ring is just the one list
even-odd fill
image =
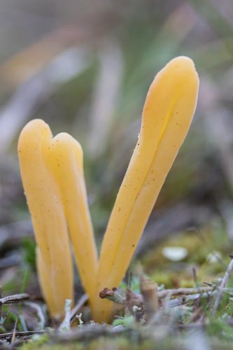
{"label": "pair of shorter yellow fungus clubs pressed together at left", "polygon": [[36,236],[41,289],[52,316],[60,318],[65,300],[73,300],[69,232],[91,305],[94,295],[97,251],[87,205],[83,151],[69,134],[52,138],[43,120],[32,120],[20,134],[18,153]]}

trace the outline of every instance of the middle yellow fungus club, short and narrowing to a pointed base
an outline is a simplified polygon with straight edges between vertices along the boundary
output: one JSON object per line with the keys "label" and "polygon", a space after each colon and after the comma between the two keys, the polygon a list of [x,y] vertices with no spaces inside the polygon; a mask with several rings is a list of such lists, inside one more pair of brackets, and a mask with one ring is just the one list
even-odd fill
{"label": "middle yellow fungus club, short and narrowing to a pointed base", "polygon": [[62,191],[80,279],[92,307],[98,262],[83,175],[83,151],[78,141],[62,132],[51,140],[45,154]]}

